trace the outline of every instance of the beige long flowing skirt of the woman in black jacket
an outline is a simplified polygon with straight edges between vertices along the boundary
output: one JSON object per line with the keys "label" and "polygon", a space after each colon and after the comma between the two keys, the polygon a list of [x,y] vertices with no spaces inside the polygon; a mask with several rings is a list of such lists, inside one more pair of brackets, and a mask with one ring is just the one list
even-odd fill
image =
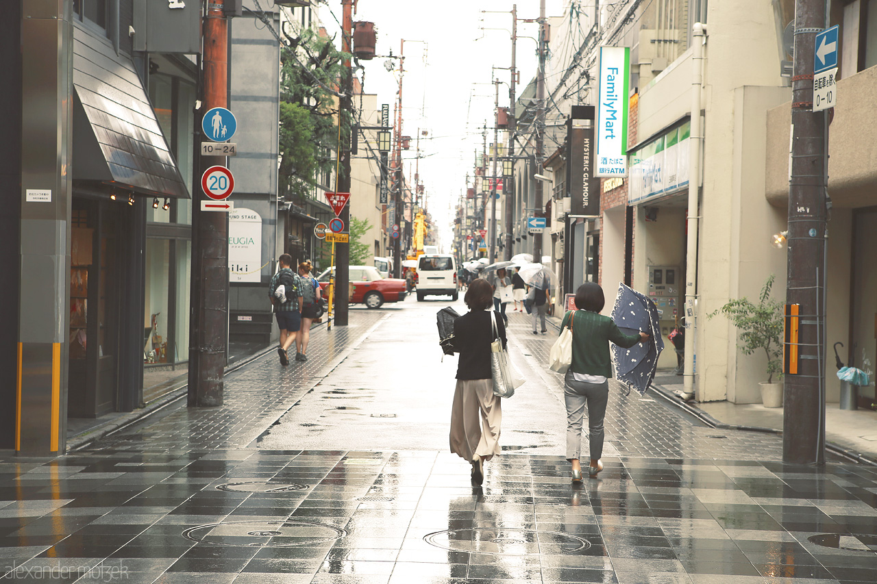
{"label": "beige long flowing skirt of the woman in black jacket", "polygon": [[500,398],[493,395],[492,380],[457,380],[451,408],[451,452],[470,461],[475,454],[485,461],[491,459],[500,453],[502,422],[503,409]]}

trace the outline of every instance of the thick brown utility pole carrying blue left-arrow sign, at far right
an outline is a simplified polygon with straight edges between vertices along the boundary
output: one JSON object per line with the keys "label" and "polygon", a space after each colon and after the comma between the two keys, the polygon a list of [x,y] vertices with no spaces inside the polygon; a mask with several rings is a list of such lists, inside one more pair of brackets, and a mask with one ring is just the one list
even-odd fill
{"label": "thick brown utility pole carrying blue left-arrow sign, at far right", "polygon": [[[797,304],[798,373],[783,388],[782,459],[825,463],[824,278],[827,237],[825,141],[828,111],[813,112],[816,32],[827,26],[825,0],[795,2],[792,77],[792,176],[788,188],[786,302]],[[788,324],[787,324],[788,326]],[[791,349],[787,346],[786,350]]]}

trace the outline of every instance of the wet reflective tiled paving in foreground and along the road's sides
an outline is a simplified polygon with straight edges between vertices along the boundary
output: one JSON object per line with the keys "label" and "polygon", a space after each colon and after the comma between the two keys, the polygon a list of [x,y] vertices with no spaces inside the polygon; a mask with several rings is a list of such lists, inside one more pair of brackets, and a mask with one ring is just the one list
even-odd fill
{"label": "wet reflective tiled paving in foreground and along the road's sides", "polygon": [[[560,445],[553,453],[542,453],[551,445],[503,452],[474,488],[467,463],[442,445],[303,450],[254,442],[293,403],[320,399],[309,393],[317,383],[344,379],[345,359],[370,334],[395,319],[419,325],[438,308],[352,312],[350,329],[314,337],[324,357],[306,369],[266,359],[230,377],[223,408],[175,410],[59,459],[3,457],[4,578],[877,581],[877,468],[837,459],[824,468],[784,465],[777,437],[695,426],[617,390],[607,438],[618,455],[605,457],[600,478],[581,488],[567,477]],[[512,317],[513,355],[542,377],[521,397],[552,410],[557,381],[538,366],[551,340],[518,334],[522,318]]]}

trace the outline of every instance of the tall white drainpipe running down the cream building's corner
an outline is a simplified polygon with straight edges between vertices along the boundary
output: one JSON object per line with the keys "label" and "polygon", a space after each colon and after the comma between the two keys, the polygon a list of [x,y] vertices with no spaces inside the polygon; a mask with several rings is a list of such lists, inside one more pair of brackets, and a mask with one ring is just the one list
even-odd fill
{"label": "tall white drainpipe running down the cream building's corner", "polygon": [[698,195],[701,182],[701,94],[703,90],[703,46],[707,26],[695,23],[693,28],[694,67],[691,75],[691,148],[688,158],[688,250],[685,258],[685,363],[682,398],[695,397],[695,331],[697,317],[697,238],[700,227]]}

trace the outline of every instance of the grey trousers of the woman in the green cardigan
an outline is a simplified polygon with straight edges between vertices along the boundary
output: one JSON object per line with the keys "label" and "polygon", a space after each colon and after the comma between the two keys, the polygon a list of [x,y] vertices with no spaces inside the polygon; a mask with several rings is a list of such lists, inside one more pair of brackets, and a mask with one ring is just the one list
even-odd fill
{"label": "grey trousers of the woman in the green cardigan", "polygon": [[563,399],[567,403],[567,460],[581,459],[581,422],[588,404],[588,442],[590,458],[602,456],[603,419],[609,401],[609,381],[586,383],[575,381],[567,370],[564,378]]}

